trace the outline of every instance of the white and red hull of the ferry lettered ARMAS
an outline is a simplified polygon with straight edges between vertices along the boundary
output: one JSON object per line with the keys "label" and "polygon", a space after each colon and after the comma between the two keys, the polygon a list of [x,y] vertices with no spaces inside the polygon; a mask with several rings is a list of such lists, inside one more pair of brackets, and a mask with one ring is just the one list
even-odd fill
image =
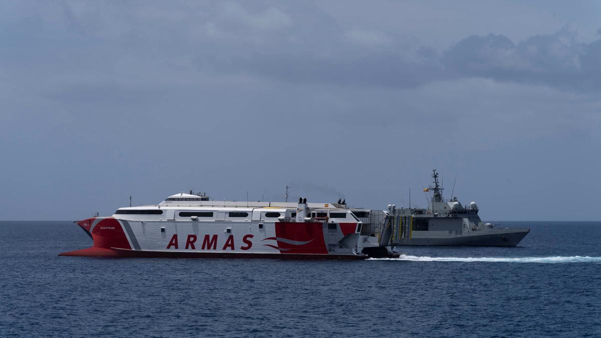
{"label": "white and red hull of the ferry lettered ARMAS", "polygon": [[[335,248],[328,241],[357,238],[350,227],[327,223],[201,223],[125,221],[96,217],[76,222],[94,241],[91,248],[61,253],[81,257],[270,258],[358,260],[361,248]],[[330,227],[329,227],[330,226]],[[355,229],[356,225],[353,225]],[[353,230],[354,231],[354,230]]]}

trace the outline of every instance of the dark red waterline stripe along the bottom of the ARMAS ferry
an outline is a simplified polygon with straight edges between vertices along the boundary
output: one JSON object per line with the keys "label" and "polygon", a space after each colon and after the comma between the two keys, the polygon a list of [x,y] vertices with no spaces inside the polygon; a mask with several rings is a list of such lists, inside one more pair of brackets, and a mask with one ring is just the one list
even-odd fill
{"label": "dark red waterline stripe along the bottom of the ARMAS ferry", "polygon": [[144,251],[87,248],[84,250],[61,253],[58,256],[82,256],[82,257],[145,257],[145,258],[267,258],[267,259],[313,259],[313,260],[359,260],[367,256],[354,254],[267,254],[267,253],[212,253],[191,251]]}

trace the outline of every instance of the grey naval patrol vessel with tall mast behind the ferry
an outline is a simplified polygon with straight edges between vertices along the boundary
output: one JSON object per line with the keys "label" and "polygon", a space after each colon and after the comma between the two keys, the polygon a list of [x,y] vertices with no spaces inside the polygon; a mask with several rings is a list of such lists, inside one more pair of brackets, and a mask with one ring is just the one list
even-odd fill
{"label": "grey naval patrol vessel with tall mast behind the ferry", "polygon": [[[380,245],[470,245],[514,247],[528,235],[530,229],[502,229],[483,223],[475,202],[462,205],[457,197],[444,200],[433,170],[433,185],[424,189],[433,192],[427,209],[403,208],[388,205],[388,210],[354,209],[364,216],[364,228],[379,237]],[[368,224],[365,224],[368,223]],[[367,227],[365,227],[367,226]]]}

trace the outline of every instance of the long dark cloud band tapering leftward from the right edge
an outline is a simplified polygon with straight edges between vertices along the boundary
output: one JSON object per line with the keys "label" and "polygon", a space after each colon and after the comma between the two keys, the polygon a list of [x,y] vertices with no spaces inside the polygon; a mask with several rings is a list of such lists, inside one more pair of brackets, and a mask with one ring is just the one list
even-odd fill
{"label": "long dark cloud band tapering leftward from the right edge", "polygon": [[[295,53],[260,50],[245,57],[215,58],[210,66],[219,72],[338,85],[407,88],[476,77],[584,93],[601,87],[601,40],[579,43],[567,29],[536,35],[517,45],[503,35],[472,35],[440,55],[424,46],[413,54],[402,48],[401,43],[368,51],[364,46],[344,45],[340,48],[344,53],[325,56],[310,48]],[[197,62],[207,60],[198,58]]]}

